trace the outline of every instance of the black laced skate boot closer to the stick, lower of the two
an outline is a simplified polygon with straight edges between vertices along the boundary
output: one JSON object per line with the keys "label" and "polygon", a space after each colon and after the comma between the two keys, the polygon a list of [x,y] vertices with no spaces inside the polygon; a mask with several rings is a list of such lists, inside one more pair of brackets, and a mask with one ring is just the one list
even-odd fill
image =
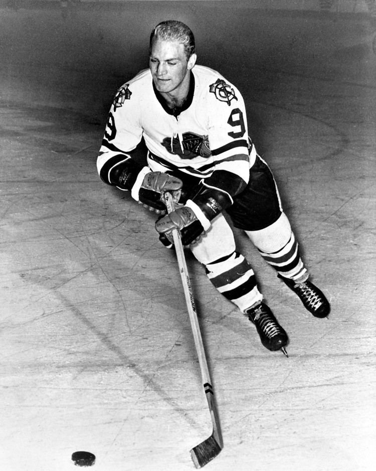
{"label": "black laced skate boot closer to the stick, lower of the two", "polygon": [[248,319],[256,326],[263,346],[272,352],[282,350],[286,355],[285,346],[288,343],[286,332],[278,324],[273,312],[264,302],[250,307],[245,311]]}

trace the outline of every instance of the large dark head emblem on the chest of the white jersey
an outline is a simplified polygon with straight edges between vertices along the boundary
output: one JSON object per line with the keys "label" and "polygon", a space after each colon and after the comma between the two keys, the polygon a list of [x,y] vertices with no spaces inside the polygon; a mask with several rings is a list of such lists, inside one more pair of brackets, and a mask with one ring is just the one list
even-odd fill
{"label": "large dark head emblem on the chest of the white jersey", "polygon": [[208,136],[201,136],[194,132],[184,132],[182,140],[178,135],[165,137],[162,145],[169,153],[180,155],[182,159],[195,159],[195,157],[210,157],[212,152],[209,147]]}

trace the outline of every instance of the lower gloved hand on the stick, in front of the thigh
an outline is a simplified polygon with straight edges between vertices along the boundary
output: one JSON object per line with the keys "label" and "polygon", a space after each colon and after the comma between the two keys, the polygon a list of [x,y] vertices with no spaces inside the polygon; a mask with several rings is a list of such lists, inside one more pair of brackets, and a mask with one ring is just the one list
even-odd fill
{"label": "lower gloved hand on the stick, in front of the thigh", "polygon": [[155,223],[155,229],[159,234],[166,234],[171,240],[171,231],[177,229],[181,234],[181,243],[190,245],[199,240],[204,232],[204,227],[197,219],[195,213],[188,206],[182,206],[167,214]]}

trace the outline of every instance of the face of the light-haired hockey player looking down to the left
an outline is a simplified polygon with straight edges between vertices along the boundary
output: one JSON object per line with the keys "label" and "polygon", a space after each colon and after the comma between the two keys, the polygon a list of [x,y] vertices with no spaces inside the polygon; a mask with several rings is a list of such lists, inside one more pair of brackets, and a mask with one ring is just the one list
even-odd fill
{"label": "face of the light-haired hockey player looking down to the left", "polygon": [[149,67],[155,88],[160,93],[177,94],[181,84],[188,80],[195,62],[196,55],[187,59],[181,43],[154,39]]}

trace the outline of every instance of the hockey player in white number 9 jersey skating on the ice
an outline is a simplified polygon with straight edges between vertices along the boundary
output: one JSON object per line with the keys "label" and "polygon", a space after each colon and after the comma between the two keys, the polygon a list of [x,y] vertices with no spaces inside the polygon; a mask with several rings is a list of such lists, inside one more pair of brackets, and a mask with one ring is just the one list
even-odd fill
{"label": "hockey player in white number 9 jersey skating on the ice", "polygon": [[[251,265],[236,250],[223,212],[313,316],[326,317],[329,303],[308,280],[273,175],[249,139],[242,95],[196,59],[186,25],[165,21],[154,28],[150,68],[126,82],[113,100],[98,172],[105,183],[130,191],[162,216],[163,192],[172,193],[175,211],[155,224],[160,239],[170,244],[177,228],[213,285],[255,325],[262,344],[284,351],[287,334],[263,301]],[[144,167],[132,159],[142,137],[148,148]]]}

